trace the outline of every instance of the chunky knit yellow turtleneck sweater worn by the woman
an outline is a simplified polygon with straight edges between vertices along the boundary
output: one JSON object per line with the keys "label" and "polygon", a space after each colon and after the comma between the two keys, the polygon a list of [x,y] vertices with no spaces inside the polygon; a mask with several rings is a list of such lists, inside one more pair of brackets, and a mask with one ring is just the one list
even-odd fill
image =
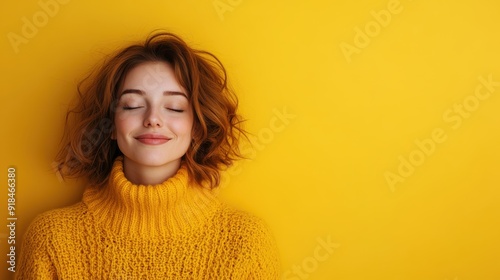
{"label": "chunky knit yellow turtleneck sweater worn by the woman", "polygon": [[16,279],[278,279],[275,241],[258,218],[188,185],[184,167],[158,185],[134,185],[113,164],[104,188],[39,215]]}

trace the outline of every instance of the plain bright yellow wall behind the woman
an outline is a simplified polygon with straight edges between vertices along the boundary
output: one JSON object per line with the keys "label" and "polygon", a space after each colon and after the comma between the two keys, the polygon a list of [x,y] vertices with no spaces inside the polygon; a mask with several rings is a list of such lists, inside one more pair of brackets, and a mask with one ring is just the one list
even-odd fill
{"label": "plain bright yellow wall behind the woman", "polygon": [[[0,217],[15,166],[18,244],[35,215],[80,199],[51,171],[76,83],[165,28],[228,69],[255,137],[221,197],[268,222],[284,279],[500,279],[500,87],[474,97],[489,92],[478,77],[500,82],[497,1],[67,2],[46,22],[38,1],[0,9]],[[39,26],[16,53],[23,18]],[[319,240],[336,244],[321,260]]]}

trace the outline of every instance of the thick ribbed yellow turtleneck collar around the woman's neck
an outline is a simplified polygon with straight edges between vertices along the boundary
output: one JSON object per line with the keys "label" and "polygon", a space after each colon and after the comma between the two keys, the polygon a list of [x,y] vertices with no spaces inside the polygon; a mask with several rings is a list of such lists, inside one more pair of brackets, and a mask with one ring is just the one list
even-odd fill
{"label": "thick ribbed yellow turtleneck collar around the woman's neck", "polygon": [[106,231],[142,237],[196,228],[219,206],[213,192],[188,184],[185,166],[161,184],[135,185],[123,173],[123,157],[113,163],[108,184],[88,187],[83,202]]}

